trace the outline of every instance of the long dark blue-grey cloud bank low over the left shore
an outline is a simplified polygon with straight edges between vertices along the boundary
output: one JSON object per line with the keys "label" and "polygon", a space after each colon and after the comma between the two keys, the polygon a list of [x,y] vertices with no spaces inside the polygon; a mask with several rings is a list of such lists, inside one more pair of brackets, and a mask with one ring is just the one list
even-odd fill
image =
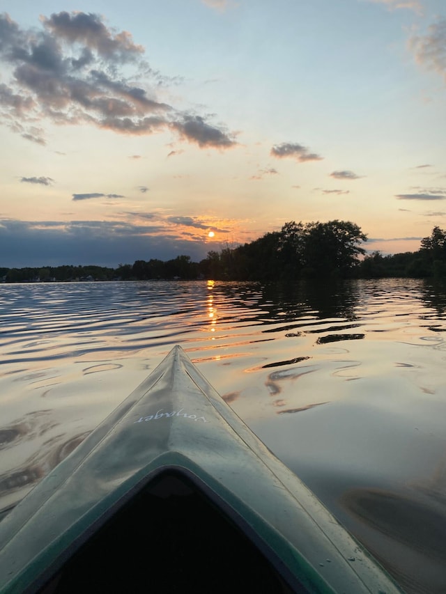
{"label": "long dark blue-grey cloud bank low over the left shore", "polygon": [[198,262],[210,249],[205,238],[183,240],[162,224],[132,225],[113,221],[0,220],[0,252],[6,267],[40,267],[63,264],[117,267],[118,263],[180,254]]}

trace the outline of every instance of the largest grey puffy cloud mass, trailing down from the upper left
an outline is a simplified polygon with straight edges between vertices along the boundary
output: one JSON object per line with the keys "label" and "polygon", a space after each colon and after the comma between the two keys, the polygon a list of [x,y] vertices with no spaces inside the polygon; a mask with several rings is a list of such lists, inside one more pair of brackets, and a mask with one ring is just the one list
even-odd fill
{"label": "largest grey puffy cloud mass, trailing down from the upper left", "polygon": [[0,84],[0,121],[25,139],[45,143],[38,120],[131,135],[170,131],[200,148],[236,145],[226,127],[157,100],[169,79],[148,65],[128,31],[99,15],[64,11],[22,29],[3,13],[0,61],[9,77]]}

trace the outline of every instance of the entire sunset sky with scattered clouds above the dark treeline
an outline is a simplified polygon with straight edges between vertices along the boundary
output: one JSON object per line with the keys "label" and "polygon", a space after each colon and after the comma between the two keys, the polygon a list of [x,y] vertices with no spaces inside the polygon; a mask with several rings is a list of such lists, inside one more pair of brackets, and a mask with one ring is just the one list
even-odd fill
{"label": "entire sunset sky with scattered clouds above the dark treeline", "polygon": [[3,0],[0,266],[446,227],[445,0]]}

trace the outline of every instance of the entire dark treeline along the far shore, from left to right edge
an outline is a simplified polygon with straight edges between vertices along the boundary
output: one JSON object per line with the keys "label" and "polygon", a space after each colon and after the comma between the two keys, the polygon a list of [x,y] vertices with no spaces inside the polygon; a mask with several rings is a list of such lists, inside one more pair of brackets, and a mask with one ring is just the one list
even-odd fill
{"label": "entire dark treeline along the far shore, from left to right edge", "polygon": [[367,254],[367,236],[350,221],[291,221],[281,230],[235,248],[210,251],[204,260],[177,256],[166,262],[136,260],[116,269],[100,266],[0,268],[5,282],[112,281],[155,279],[215,279],[235,281],[295,281],[412,277],[446,278],[446,231],[434,227],[415,252],[383,256]]}

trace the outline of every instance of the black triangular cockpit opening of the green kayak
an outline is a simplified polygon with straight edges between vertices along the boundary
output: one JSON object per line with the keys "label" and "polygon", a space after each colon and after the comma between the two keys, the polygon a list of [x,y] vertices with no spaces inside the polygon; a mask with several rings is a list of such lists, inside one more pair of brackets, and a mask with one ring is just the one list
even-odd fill
{"label": "black triangular cockpit opening of the green kayak", "polygon": [[40,594],[306,592],[189,477],[163,471],[59,568]]}

